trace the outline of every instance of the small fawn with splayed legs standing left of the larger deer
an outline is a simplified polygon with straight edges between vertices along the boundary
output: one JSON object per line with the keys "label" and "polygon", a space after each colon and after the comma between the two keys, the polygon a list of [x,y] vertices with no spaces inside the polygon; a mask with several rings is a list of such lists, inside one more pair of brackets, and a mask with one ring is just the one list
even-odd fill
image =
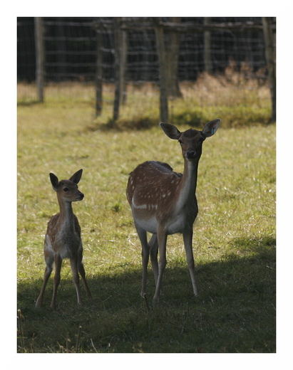
{"label": "small fawn with splayed legs standing left of the larger deer", "polygon": [[79,287],[79,275],[83,279],[83,285],[86,288],[86,295],[91,297],[91,292],[88,289],[86,282],[86,273],[83,268],[83,245],[81,243],[81,227],[79,226],[76,215],[73,214],[73,201],[82,201],[83,193],[78,190],[78,182],[81,179],[83,170],[77,171],[69,180],[58,181],[58,177],[50,174],[51,184],[53,190],[57,193],[57,199],[60,207],[60,213],[51,217],[48,222],[48,228],[44,243],[44,257],[46,262],[46,269],[43,275],[43,286],[41,287],[40,295],[36,300],[36,307],[41,307],[43,302],[43,293],[46,289],[48,278],[53,270],[53,263],[55,263],[55,276],[53,297],[51,301],[51,308],[56,308],[56,294],[60,282],[61,265],[63,258],[70,258],[71,270],[73,273],[73,282],[76,286],[76,294],[78,304],[82,304],[81,290]]}

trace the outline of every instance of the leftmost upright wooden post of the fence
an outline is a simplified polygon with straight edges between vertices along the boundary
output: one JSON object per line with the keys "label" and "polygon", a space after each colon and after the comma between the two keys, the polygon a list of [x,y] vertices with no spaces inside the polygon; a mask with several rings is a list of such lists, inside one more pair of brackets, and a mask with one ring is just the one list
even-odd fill
{"label": "leftmost upright wooden post of the fence", "polygon": [[43,79],[44,79],[44,45],[43,45],[43,21],[41,17],[34,18],[36,40],[36,93],[38,102],[43,102]]}

